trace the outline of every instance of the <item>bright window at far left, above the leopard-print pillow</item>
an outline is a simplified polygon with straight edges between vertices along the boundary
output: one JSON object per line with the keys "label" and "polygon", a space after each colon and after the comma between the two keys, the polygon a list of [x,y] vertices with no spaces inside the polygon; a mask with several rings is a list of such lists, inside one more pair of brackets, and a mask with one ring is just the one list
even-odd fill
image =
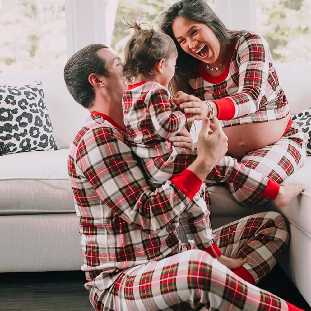
{"label": "bright window at far left, above the leopard-print pillow", "polygon": [[65,0],[0,0],[0,71],[63,67]]}

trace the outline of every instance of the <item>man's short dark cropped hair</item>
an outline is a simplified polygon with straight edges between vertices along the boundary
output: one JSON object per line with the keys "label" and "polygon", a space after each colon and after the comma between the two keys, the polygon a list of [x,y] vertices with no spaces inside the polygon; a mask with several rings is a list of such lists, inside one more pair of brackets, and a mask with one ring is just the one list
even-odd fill
{"label": "man's short dark cropped hair", "polygon": [[100,49],[108,49],[108,47],[104,44],[86,46],[74,53],[64,68],[64,79],[68,91],[74,100],[86,109],[92,107],[95,98],[94,88],[88,80],[89,75],[96,73],[109,76],[106,60],[97,54]]}

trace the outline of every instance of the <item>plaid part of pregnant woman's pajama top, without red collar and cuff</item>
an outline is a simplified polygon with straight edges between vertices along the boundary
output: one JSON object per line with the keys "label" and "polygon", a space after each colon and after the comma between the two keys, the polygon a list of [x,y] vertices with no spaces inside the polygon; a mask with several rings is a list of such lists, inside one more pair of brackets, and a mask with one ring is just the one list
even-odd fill
{"label": "plaid part of pregnant woman's pajama top, without red collar and cuff", "polygon": [[189,80],[193,95],[201,100],[229,99],[234,104],[233,117],[221,121],[224,127],[277,120],[289,114],[286,95],[262,36],[250,32],[240,35],[229,66],[222,82],[205,81],[199,72]]}

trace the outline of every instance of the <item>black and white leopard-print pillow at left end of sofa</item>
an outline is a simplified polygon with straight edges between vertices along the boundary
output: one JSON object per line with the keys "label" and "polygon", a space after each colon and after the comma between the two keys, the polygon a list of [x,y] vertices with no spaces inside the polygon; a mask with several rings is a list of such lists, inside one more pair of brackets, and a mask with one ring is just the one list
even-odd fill
{"label": "black and white leopard-print pillow at left end of sofa", "polygon": [[41,82],[0,86],[0,156],[59,149]]}

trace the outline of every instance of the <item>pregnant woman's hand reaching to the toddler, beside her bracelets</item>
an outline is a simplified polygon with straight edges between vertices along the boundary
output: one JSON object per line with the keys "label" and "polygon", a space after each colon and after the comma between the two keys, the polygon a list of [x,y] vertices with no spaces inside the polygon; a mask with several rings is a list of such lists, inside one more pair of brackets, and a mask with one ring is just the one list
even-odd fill
{"label": "pregnant woman's hand reaching to the toddler, beside her bracelets", "polygon": [[196,96],[178,91],[173,98],[173,101],[177,106],[183,109],[186,114],[189,115],[187,122],[202,120],[209,114],[208,105]]}

